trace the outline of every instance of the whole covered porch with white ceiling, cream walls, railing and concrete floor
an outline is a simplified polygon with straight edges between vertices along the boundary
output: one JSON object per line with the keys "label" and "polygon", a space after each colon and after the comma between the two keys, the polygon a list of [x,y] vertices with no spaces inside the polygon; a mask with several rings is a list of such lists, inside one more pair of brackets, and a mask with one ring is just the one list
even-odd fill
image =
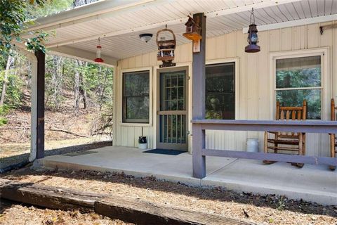
{"label": "whole covered porch with white ceiling, cream walls, railing and concrete floor", "polygon": [[[251,8],[256,12],[259,53],[244,52]],[[199,52],[193,52],[192,42],[183,36],[187,15],[201,18],[203,38]],[[227,1],[102,1],[39,20],[39,24],[27,30],[27,35],[39,29],[55,30],[55,37],[48,40],[46,48],[61,56],[92,61],[100,40],[104,64],[115,68],[114,146],[86,155],[44,158],[44,54],[37,53],[39,79],[34,84],[36,98],[32,98],[32,159],[38,158],[37,165],[45,167],[153,175],[198,186],[223,186],[322,204],[336,203],[336,172],[327,169],[328,165],[337,165],[337,158],[329,155],[329,133],[337,130],[337,122],[329,121],[329,101],[337,96],[336,20],[335,1],[318,0],[232,1],[231,4]],[[162,68],[157,60],[156,40],[152,38],[145,43],[139,35],[155,37],[166,25],[176,34],[177,46],[175,65]],[[314,112],[317,116],[308,121],[273,121],[277,91],[289,91],[277,89],[276,60],[311,56],[319,57],[319,63],[315,64],[322,70],[319,86],[298,90],[318,90],[315,97],[319,98],[316,105],[319,110]],[[231,80],[223,84],[231,86],[228,92],[232,98],[227,102],[230,106],[226,106],[230,112],[225,110],[230,118],[206,120],[206,65],[232,67]],[[128,81],[125,77],[131,78]],[[176,80],[176,84],[173,86],[167,80]],[[138,85],[140,91],[135,90],[140,94],[126,94],[126,83],[134,86],[140,84],[138,81],[142,85]],[[179,105],[182,101],[182,109],[162,107],[172,100],[162,97],[162,90],[180,88],[183,97],[175,98],[174,103]],[[133,108],[128,108],[128,100],[132,99]],[[135,108],[133,113],[126,113]],[[173,117],[180,125],[176,122],[173,126]],[[171,118],[171,129],[176,127],[174,144],[168,134],[168,118]],[[304,155],[262,153],[261,131],[306,132],[308,151]],[[147,136],[150,149],[164,146],[185,153],[174,156],[143,153],[135,148],[139,136]],[[260,152],[246,152],[249,138],[260,141]],[[262,160],[278,162],[263,165]],[[305,163],[305,167],[298,169],[286,162]]]}

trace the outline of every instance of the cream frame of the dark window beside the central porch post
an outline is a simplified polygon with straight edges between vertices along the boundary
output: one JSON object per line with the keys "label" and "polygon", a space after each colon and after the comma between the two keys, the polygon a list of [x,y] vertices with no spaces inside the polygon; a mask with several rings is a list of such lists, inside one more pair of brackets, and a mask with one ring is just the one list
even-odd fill
{"label": "cream frame of the dark window beside the central porch post", "polygon": [[[213,65],[213,64],[223,64],[223,63],[234,63],[235,64],[235,75],[234,75],[234,86],[235,86],[235,118],[234,120],[238,120],[239,118],[239,57],[234,58],[220,58],[215,60],[206,60],[206,65]],[[205,77],[206,78],[206,77]],[[205,105],[206,106],[206,105]],[[205,109],[206,110],[206,109]]]}

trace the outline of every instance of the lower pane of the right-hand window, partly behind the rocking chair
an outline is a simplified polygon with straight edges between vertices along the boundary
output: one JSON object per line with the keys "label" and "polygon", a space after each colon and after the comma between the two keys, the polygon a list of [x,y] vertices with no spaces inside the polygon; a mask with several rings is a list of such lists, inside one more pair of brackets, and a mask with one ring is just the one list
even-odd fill
{"label": "lower pane of the right-hand window, partly behind the rocking chair", "polygon": [[302,106],[307,101],[307,119],[321,119],[321,89],[276,91],[276,99],[284,106]]}

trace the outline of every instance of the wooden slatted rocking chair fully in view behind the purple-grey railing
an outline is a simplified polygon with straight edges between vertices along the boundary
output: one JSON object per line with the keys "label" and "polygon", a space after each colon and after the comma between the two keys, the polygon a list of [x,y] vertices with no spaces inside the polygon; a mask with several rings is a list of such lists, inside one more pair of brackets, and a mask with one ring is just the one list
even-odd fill
{"label": "wooden slatted rocking chair fully in view behind the purple-grey railing", "polygon": [[[303,101],[303,106],[289,107],[280,106],[279,101],[276,103],[276,120],[306,120],[307,118],[307,101]],[[274,137],[272,138],[272,134]],[[272,145],[269,145],[271,143]],[[294,132],[270,132],[265,131],[265,153],[273,150],[277,153],[279,150],[295,151],[298,155],[305,155],[305,133]],[[272,164],[275,161],[263,160],[265,164]],[[297,167],[303,167],[303,163],[291,163]]]}

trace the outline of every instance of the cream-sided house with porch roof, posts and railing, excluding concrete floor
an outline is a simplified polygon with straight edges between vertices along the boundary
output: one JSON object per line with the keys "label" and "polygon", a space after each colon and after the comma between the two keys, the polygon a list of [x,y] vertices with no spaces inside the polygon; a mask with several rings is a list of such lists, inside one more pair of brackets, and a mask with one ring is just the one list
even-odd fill
{"label": "cream-sided house with porch roof, posts and railing, excluding concrete floor", "polygon": [[[251,8],[258,53],[244,51]],[[206,18],[201,51],[192,53],[184,24],[187,15],[197,13]],[[139,35],[156,34],[166,25],[176,34],[176,65],[161,68],[155,39],[145,43]],[[206,155],[274,157],[242,151],[248,138],[258,139],[263,151],[263,132],[258,131],[266,130],[308,132],[305,156],[275,154],[277,160],[337,164],[329,157],[328,135],[337,130],[336,122],[329,122],[330,101],[337,98],[336,27],[333,0],[107,0],[38,19],[26,34],[53,30],[55,36],[46,42],[49,51],[89,61],[100,38],[103,65],[115,68],[113,145],[138,147],[143,135],[148,148],[189,151],[194,177],[202,178]],[[43,63],[44,56],[37,56]],[[40,64],[37,71],[43,76]],[[282,71],[292,69],[297,77],[284,77]],[[315,70],[315,75],[303,77],[303,70]],[[41,91],[38,82],[34,88]],[[297,105],[303,98],[310,120],[272,121],[277,100]],[[41,158],[43,141],[37,139],[44,134],[43,101],[34,101],[32,149]]]}

